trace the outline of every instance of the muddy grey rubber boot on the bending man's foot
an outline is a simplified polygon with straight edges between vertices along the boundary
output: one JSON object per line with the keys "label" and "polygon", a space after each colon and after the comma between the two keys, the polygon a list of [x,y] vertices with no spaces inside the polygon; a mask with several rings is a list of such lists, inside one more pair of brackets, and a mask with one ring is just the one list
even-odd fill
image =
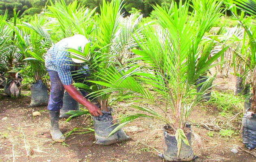
{"label": "muddy grey rubber boot on the bending man's foot", "polygon": [[65,136],[63,136],[59,128],[59,116],[59,111],[50,111],[50,134],[52,136],[53,141],[55,142],[63,142],[66,140]]}

